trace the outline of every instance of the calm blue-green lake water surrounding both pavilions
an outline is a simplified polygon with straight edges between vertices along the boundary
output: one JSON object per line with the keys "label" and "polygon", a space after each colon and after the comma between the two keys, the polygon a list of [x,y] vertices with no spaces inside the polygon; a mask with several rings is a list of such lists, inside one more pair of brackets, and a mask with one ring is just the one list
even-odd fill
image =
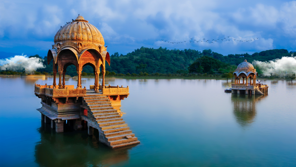
{"label": "calm blue-green lake water surrounding both pavilions", "polygon": [[262,81],[268,95],[250,97],[224,93],[231,80],[107,78],[129,86],[121,111],[141,141],[112,150],[41,124],[34,83],[52,80],[0,78],[0,166],[296,166],[296,81]]}

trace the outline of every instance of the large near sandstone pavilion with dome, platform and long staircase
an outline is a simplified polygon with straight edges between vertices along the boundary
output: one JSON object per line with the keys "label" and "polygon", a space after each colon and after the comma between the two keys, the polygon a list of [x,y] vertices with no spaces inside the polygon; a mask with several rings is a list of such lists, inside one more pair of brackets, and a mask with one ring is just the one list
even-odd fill
{"label": "large near sandstone pavilion with dome, platform and long staircase", "polygon": [[[47,53],[47,63],[53,62],[53,83],[35,84],[35,95],[42,104],[37,110],[41,121],[51,124],[57,133],[63,132],[65,126],[74,130],[87,128],[89,135],[98,131],[99,141],[111,148],[138,144],[140,141],[121,118],[125,113],[120,111],[120,102],[128,97],[128,86],[105,85],[105,65],[110,65],[110,56],[104,44],[100,31],[82,16],[61,26]],[[67,67],[72,64],[78,74],[77,86],[65,83]],[[81,85],[81,72],[86,65],[93,67],[95,75],[89,89]]]}

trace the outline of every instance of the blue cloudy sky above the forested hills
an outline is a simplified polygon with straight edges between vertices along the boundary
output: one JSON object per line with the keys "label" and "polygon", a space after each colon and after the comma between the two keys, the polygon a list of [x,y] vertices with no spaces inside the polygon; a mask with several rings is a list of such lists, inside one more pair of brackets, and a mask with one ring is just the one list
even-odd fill
{"label": "blue cloudy sky above the forested hills", "polygon": [[[0,0],[0,51],[46,56],[60,26],[78,14],[101,31],[110,54],[141,46],[212,49],[223,55],[296,51],[296,1],[275,0]],[[227,42],[189,42],[228,36]]]}

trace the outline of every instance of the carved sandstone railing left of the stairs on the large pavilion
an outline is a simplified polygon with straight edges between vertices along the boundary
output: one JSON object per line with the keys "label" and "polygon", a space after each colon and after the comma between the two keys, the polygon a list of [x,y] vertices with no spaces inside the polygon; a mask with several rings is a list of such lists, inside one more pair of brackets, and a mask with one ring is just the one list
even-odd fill
{"label": "carved sandstone railing left of the stairs on the large pavilion", "polygon": [[[74,87],[74,86],[71,86]],[[35,93],[37,94],[45,94],[49,96],[77,96],[77,95],[85,95],[86,94],[86,87],[84,89],[76,88],[76,89],[56,89],[56,88],[49,88],[47,85],[35,85]]]}

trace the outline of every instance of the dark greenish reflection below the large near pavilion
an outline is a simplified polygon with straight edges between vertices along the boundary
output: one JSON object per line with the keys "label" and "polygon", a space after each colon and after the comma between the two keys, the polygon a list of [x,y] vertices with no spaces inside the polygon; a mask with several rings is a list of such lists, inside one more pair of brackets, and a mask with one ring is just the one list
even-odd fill
{"label": "dark greenish reflection below the large near pavilion", "polygon": [[35,146],[35,161],[40,166],[112,166],[128,160],[132,147],[109,149],[99,136],[89,138],[87,130],[54,133],[43,124],[38,131],[41,141]]}

